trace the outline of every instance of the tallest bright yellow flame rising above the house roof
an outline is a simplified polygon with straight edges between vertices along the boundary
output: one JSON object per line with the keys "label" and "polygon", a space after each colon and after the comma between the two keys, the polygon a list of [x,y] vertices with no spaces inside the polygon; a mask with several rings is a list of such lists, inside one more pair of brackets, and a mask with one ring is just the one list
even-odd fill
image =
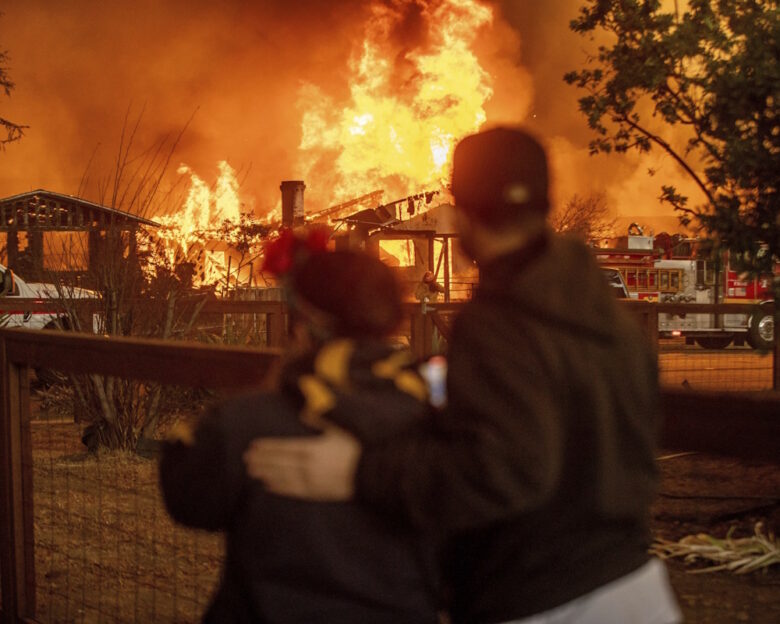
{"label": "tallest bright yellow flame rising above the house roof", "polygon": [[[337,108],[316,85],[301,90],[307,184],[327,185],[336,202],[375,188],[401,197],[446,181],[453,145],[486,120],[490,77],[471,47],[492,19],[477,0],[375,2],[350,61],[347,106]],[[323,162],[332,163],[330,175],[321,176]]]}

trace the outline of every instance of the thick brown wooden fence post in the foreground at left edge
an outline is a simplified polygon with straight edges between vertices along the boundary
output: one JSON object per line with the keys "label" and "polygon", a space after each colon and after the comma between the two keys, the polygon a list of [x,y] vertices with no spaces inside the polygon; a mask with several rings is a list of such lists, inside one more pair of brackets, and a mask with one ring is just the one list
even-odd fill
{"label": "thick brown wooden fence post in the foreground at left edge", "polygon": [[8,361],[0,340],[0,583],[3,621],[35,613],[35,544],[29,369]]}

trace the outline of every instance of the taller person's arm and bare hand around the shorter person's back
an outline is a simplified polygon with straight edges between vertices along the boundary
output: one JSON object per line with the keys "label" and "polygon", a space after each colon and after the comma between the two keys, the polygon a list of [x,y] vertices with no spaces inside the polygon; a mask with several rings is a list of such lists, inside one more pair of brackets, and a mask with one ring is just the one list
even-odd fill
{"label": "taller person's arm and bare hand around the shorter person's back", "polygon": [[[542,504],[561,468],[562,425],[533,345],[507,344],[500,315],[456,322],[449,407],[361,447],[329,428],[314,439],[252,442],[248,473],[309,500],[357,498],[423,529],[453,531]],[[457,347],[456,347],[457,344]]]}

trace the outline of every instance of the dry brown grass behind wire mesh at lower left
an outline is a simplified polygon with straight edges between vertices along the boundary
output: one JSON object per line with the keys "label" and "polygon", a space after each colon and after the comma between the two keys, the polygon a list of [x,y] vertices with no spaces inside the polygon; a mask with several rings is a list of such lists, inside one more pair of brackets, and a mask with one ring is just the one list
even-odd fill
{"label": "dry brown grass behind wire mesh at lower left", "polygon": [[88,455],[80,434],[73,423],[32,424],[36,619],[199,621],[221,536],[173,524],[155,461]]}

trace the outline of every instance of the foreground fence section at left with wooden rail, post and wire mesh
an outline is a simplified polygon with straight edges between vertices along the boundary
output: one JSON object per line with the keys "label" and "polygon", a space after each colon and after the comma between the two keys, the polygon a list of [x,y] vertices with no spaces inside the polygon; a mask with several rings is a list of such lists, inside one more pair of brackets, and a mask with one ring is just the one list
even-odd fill
{"label": "foreground fence section at left with wooden rail, post and wire mesh", "polygon": [[[151,440],[217,393],[256,387],[279,355],[0,330],[0,618],[199,621],[222,538],[169,519]],[[41,390],[35,370],[68,383]]]}

